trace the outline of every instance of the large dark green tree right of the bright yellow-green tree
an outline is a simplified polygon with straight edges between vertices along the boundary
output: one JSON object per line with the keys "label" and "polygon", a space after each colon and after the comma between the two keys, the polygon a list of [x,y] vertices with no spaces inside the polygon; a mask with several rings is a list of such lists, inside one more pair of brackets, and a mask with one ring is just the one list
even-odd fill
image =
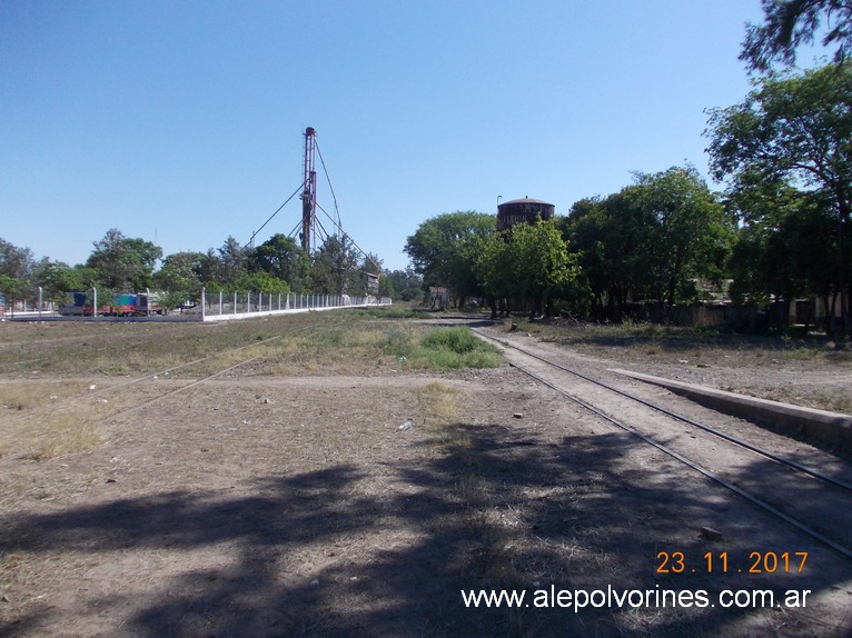
{"label": "large dark green tree right of the bright yellow-green tree", "polygon": [[733,220],[692,167],[636,173],[606,198],[577,201],[563,233],[581,253],[579,289],[593,316],[621,320],[632,302],[693,301],[695,280],[719,282]]}

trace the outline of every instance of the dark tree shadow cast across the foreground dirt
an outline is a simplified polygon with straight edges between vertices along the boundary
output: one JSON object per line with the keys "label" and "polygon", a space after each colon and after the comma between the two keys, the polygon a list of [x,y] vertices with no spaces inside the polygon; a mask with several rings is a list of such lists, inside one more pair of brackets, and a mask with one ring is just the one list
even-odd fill
{"label": "dark tree shadow cast across the foreground dirt", "polygon": [[[656,574],[661,550],[713,549],[697,535],[692,547],[666,539],[677,521],[714,520],[724,506],[700,497],[690,481],[640,468],[630,457],[642,445],[626,433],[548,442],[522,429],[462,425],[430,432],[419,445],[439,451],[414,465],[386,462],[382,469],[398,478],[394,485],[405,486],[390,494],[369,489],[366,468],[338,465],[259,477],[248,497],[178,490],[50,515],[6,515],[0,551],[61,550],[103,560],[143,549],[220,548],[218,565],[167,576],[136,601],[121,631],[140,637],[719,636],[750,612],[466,607],[460,591],[470,589],[524,589],[532,604],[535,590],[552,585],[734,587],[706,575]],[[828,571],[806,584],[813,590],[833,585]],[[116,608],[118,598],[97,602]],[[38,635],[44,622],[59,620],[48,608],[0,622],[0,635]]]}

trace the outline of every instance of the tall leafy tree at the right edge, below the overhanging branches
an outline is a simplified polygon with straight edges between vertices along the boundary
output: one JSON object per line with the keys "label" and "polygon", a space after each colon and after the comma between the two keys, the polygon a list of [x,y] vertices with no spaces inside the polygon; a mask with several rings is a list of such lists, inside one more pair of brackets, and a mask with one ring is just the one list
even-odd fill
{"label": "tall leafy tree at the right edge, below the overhanging branches", "polygon": [[[849,315],[848,250],[852,210],[852,69],[830,64],[765,78],[745,100],[710,111],[707,152],[729,192],[789,182],[821,193],[838,225],[838,287],[843,326]],[[825,252],[826,246],[812,247]]]}

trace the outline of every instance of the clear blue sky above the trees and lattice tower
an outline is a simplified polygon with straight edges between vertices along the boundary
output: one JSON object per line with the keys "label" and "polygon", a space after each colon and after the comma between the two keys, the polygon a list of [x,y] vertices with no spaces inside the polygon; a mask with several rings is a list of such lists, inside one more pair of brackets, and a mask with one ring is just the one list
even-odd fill
{"label": "clear blue sky above the trees and lattice tower", "polygon": [[[443,212],[566,215],[632,171],[706,172],[704,109],[750,90],[760,19],[760,0],[3,0],[0,237],[71,265],[110,228],[166,255],[246,242],[314,127],[344,229],[402,269]],[[294,199],[258,242],[299,219]]]}

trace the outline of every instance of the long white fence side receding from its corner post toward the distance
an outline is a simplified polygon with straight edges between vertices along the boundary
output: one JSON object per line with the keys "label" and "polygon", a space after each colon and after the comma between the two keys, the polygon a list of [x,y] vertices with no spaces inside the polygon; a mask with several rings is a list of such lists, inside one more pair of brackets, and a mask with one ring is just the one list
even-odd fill
{"label": "long white fence side receding from its corner post toward the distance", "polygon": [[295,292],[215,292],[201,290],[202,321],[228,321],[250,317],[269,317],[336,308],[370,308],[390,306],[389,297],[350,297],[348,295],[314,295]]}

